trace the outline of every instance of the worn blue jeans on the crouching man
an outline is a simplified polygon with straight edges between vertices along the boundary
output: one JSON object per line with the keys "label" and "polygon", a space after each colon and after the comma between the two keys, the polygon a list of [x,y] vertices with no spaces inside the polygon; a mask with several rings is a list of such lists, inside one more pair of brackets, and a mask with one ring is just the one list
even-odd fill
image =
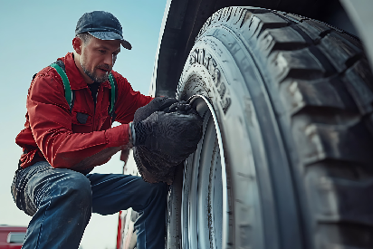
{"label": "worn blue jeans on the crouching man", "polygon": [[141,177],[89,174],[52,168],[47,162],[17,170],[12,184],[15,204],[33,218],[24,249],[74,249],[91,212],[111,215],[132,207],[138,249],[165,248],[167,186],[149,184]]}

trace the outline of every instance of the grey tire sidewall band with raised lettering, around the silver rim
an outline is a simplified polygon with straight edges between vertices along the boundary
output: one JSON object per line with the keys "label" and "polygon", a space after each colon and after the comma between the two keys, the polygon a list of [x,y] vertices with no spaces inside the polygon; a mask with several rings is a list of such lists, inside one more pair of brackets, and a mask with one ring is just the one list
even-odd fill
{"label": "grey tire sidewall band with raised lettering, around the silver rim", "polygon": [[230,214],[227,245],[265,248],[253,153],[257,162],[264,158],[259,155],[261,142],[253,151],[250,138],[259,139],[259,124],[239,68],[214,37],[200,37],[186,60],[177,98],[186,101],[193,95],[203,95],[213,105],[223,138]]}

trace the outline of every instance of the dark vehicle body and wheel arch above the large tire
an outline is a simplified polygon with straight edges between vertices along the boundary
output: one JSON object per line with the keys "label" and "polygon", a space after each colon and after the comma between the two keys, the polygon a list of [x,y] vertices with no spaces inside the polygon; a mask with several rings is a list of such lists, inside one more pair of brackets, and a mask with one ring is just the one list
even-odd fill
{"label": "dark vehicle body and wheel arch above the large tire", "polygon": [[[228,6],[253,6],[299,14],[320,20],[359,35],[365,42],[370,62],[373,60],[373,18],[369,13],[371,1],[359,0],[183,0],[167,1],[158,43],[158,58],[151,92],[156,95],[175,96],[177,82],[186,57],[192,49],[196,35],[208,17]],[[166,7],[166,8],[167,8]]]}

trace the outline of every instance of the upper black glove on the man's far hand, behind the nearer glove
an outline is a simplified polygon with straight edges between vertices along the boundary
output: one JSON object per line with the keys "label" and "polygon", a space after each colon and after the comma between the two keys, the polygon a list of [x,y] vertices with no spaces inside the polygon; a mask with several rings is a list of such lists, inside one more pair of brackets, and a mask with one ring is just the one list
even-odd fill
{"label": "upper black glove on the man's far hand, behind the nearer glove", "polygon": [[146,106],[140,107],[135,112],[134,122],[142,121],[148,118],[153,112],[168,110],[168,108],[177,103],[177,99],[167,97],[157,97],[150,101]]}

